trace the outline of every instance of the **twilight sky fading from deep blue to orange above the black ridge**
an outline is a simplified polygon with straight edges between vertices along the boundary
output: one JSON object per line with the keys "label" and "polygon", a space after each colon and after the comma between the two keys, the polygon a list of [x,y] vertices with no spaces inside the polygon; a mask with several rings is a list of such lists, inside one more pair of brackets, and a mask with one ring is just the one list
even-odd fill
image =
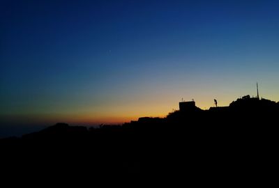
{"label": "twilight sky fading from deep blue to orange above the black ridge", "polygon": [[0,1],[0,136],[279,100],[278,1]]}

